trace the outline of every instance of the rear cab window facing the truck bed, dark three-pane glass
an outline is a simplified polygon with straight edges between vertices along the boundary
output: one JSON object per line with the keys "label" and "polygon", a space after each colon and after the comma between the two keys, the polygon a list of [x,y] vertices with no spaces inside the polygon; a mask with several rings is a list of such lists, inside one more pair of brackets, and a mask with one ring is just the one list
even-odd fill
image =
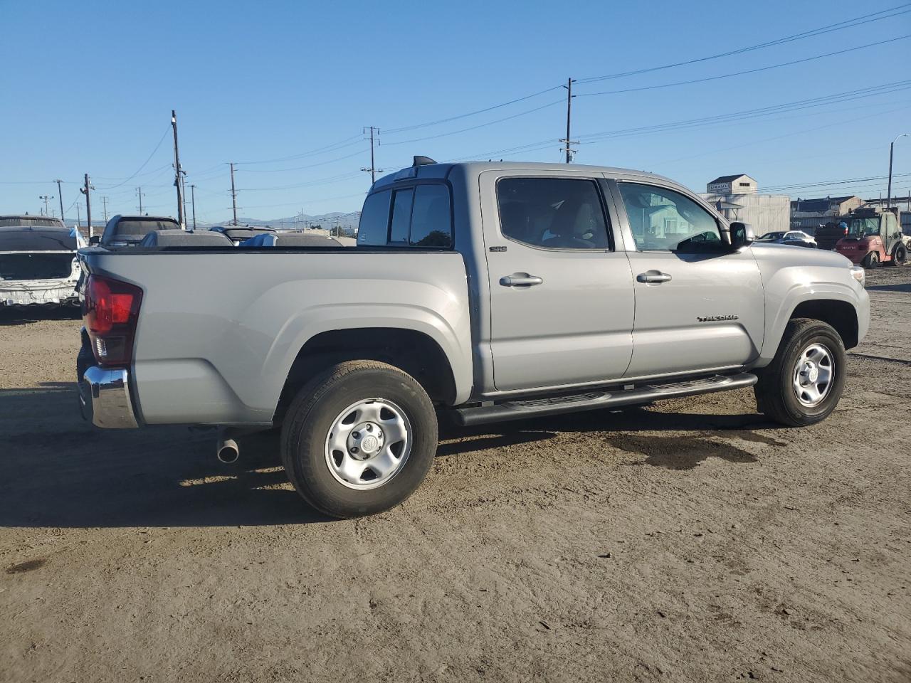
{"label": "rear cab window facing the truck bed, dark three-pane glass", "polygon": [[447,185],[422,183],[374,192],[363,203],[357,244],[451,249],[452,197]]}

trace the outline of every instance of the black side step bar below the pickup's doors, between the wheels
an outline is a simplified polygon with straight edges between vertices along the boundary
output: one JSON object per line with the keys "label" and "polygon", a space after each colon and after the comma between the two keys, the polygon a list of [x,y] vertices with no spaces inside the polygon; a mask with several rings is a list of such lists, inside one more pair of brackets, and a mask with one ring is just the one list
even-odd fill
{"label": "black side step bar below the pickup's doors, between the wheels", "polygon": [[697,393],[723,392],[728,389],[742,389],[757,382],[752,372],[732,375],[714,375],[687,382],[665,382],[643,384],[633,389],[615,391],[591,391],[572,395],[547,398],[504,401],[472,408],[456,408],[455,422],[468,427],[474,424],[498,423],[507,420],[525,420],[540,415],[558,415],[577,411],[616,408],[636,403],[651,403],[660,399],[680,398]]}

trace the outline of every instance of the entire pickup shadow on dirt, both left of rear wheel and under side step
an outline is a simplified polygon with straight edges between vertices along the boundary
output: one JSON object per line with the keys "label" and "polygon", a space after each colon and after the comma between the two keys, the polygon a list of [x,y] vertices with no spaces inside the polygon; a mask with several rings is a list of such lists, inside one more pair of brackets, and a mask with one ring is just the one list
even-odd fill
{"label": "entire pickup shadow on dirt, both left of rear wheel and under side step", "polygon": [[[441,424],[437,455],[545,441],[560,432],[598,432],[636,454],[630,464],[689,469],[718,456],[752,454],[711,434],[779,443],[752,432],[760,415],[599,411],[460,429]],[[630,432],[691,432],[689,436]],[[275,433],[241,440],[238,464],[215,458],[215,433],[184,427],[101,431],[83,422],[76,389],[53,382],[0,390],[0,526],[121,527],[307,524],[331,521],[288,484]]]}

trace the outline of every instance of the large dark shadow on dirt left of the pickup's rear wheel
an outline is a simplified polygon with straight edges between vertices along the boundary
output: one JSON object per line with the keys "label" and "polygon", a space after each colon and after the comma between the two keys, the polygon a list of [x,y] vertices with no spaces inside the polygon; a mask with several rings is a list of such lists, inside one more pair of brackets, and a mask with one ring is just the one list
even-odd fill
{"label": "large dark shadow on dirt left of the pickup's rear wheel", "polygon": [[73,384],[0,390],[0,526],[223,526],[324,522],[278,462],[274,435],[243,439],[238,464],[215,433],[101,431]]}

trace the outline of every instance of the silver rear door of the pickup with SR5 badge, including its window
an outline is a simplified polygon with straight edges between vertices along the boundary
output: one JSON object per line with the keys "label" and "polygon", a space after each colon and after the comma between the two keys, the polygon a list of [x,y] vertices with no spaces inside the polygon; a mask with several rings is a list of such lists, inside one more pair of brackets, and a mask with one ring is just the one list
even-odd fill
{"label": "silver rear door of the pickup with SR5 badge, including its window", "polygon": [[630,263],[603,179],[481,174],[490,348],[499,391],[619,379],[630,364]]}

